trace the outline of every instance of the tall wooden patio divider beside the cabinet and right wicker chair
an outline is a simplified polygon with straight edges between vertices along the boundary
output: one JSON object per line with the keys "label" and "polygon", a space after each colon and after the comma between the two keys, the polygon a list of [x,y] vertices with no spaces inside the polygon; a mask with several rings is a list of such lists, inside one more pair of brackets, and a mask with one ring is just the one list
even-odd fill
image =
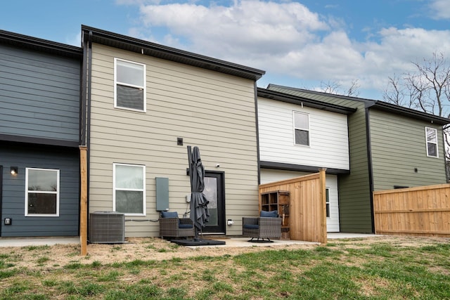
{"label": "tall wooden patio divider beside the cabinet and right wicker chair", "polygon": [[262,193],[290,193],[290,238],[326,244],[326,169],[319,173],[259,185]]}

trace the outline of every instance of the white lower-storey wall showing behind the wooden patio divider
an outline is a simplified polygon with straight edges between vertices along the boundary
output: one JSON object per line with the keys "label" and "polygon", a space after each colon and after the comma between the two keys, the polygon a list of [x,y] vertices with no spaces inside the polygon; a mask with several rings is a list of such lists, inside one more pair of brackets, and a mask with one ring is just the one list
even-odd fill
{"label": "white lower-storey wall showing behind the wooden patio divider", "polygon": [[[310,173],[261,169],[261,184],[282,181],[308,175]],[[330,197],[330,217],[326,219],[328,233],[339,232],[339,200],[338,200],[338,176],[326,174],[326,188]]]}

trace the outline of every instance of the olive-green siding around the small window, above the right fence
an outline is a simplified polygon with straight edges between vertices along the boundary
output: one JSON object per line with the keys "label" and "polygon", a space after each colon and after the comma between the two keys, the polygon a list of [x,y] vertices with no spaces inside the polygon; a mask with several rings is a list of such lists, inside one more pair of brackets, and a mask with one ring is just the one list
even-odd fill
{"label": "olive-green siding around the small window, above the right fence", "polygon": [[[370,120],[374,190],[446,183],[440,126],[377,110]],[[427,156],[425,126],[437,129],[439,157]]]}

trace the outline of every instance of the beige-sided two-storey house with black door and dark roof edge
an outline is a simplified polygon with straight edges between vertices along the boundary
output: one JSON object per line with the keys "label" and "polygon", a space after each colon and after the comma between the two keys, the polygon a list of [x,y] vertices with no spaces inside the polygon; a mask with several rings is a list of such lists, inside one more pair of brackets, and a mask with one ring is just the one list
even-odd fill
{"label": "beige-sided two-storey house with black door and dark roof edge", "polygon": [[[123,213],[126,237],[158,236],[160,211],[188,215],[187,146],[198,146],[212,213],[203,232],[240,235],[242,216],[258,211],[255,82],[264,72],[91,27],[82,32],[89,213]],[[168,199],[157,200],[158,189]]]}

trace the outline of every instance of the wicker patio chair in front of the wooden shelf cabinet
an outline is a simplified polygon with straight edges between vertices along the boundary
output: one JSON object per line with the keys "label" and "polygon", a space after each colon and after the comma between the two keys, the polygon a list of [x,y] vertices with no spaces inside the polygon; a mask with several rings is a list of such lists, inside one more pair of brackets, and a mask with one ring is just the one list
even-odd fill
{"label": "wicker patio chair in front of the wooden shelf cabinet", "polygon": [[[252,237],[248,242],[273,242],[271,238],[281,237],[281,218],[278,217],[243,217],[242,227],[243,236]],[[257,240],[253,240],[254,238]]]}

